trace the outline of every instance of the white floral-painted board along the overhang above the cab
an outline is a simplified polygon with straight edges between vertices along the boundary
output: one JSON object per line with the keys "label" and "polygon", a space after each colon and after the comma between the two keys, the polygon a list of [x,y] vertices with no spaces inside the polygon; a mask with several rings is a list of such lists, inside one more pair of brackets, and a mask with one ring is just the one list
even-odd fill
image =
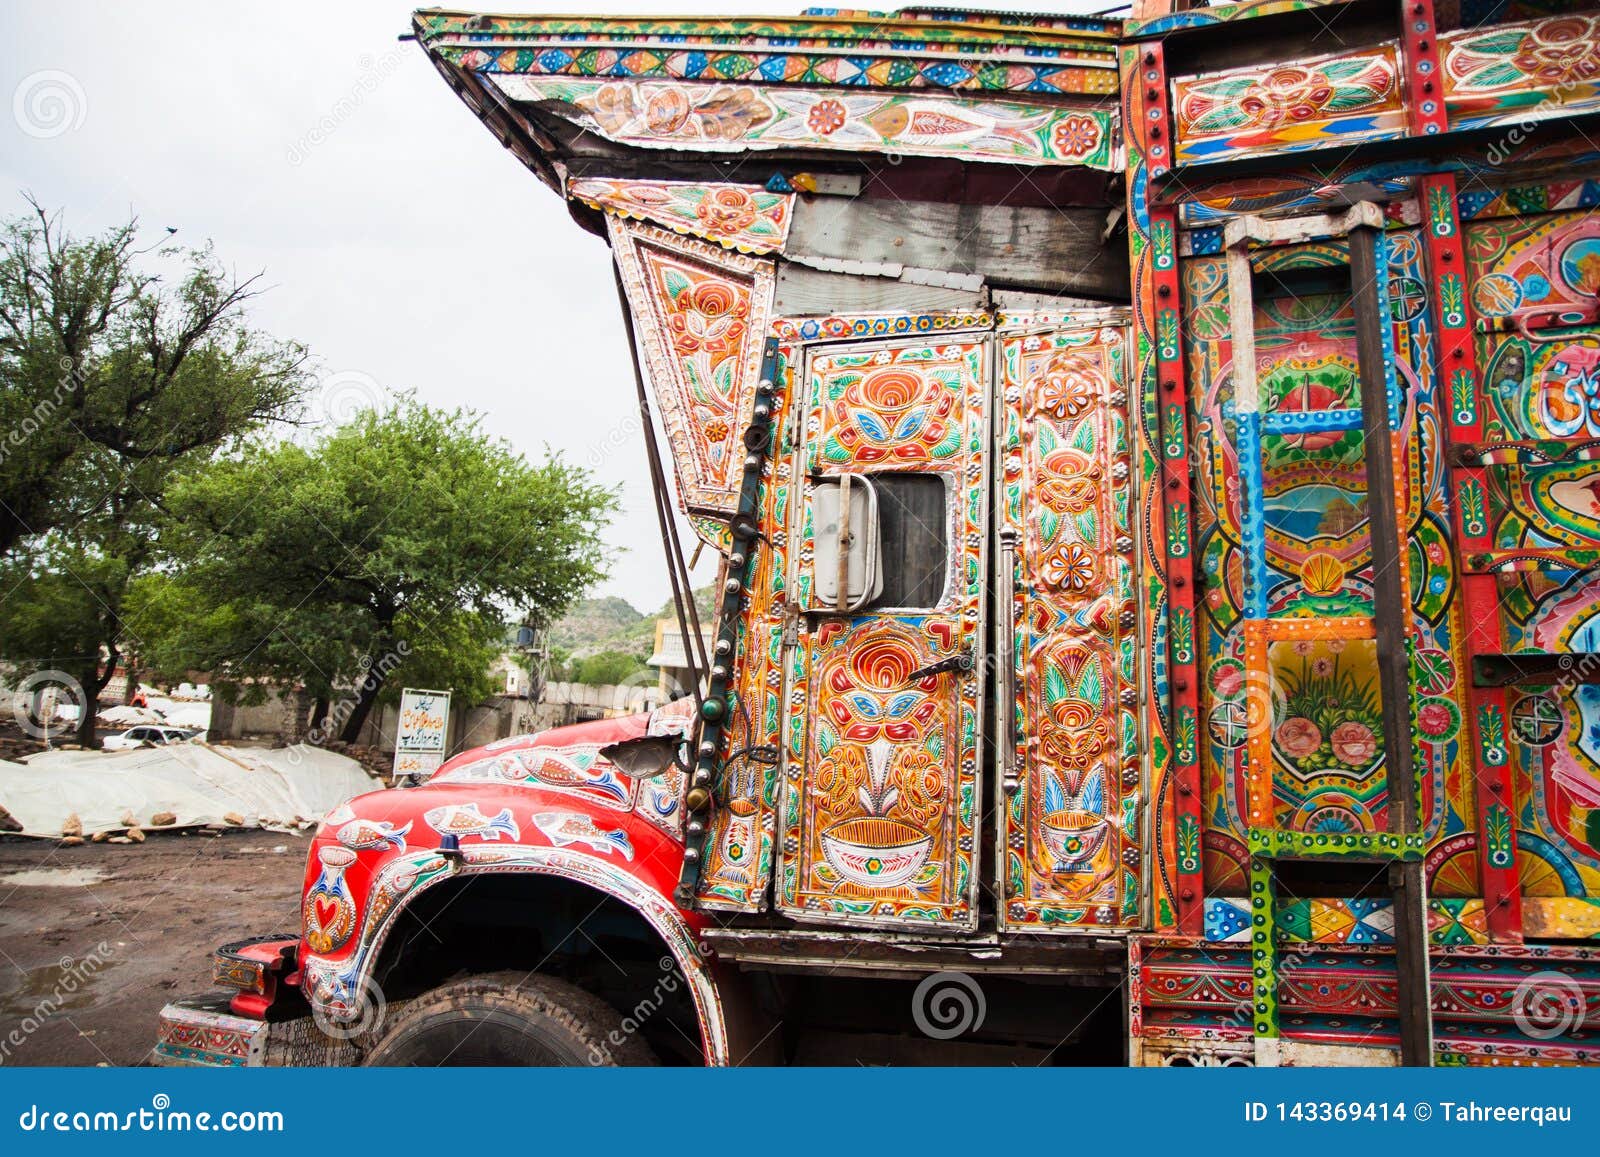
{"label": "white floral-painted board along the overhang above the cab", "polygon": [[563,101],[619,144],[704,152],[819,149],[1114,168],[1102,107],[770,85],[491,77],[512,101]]}

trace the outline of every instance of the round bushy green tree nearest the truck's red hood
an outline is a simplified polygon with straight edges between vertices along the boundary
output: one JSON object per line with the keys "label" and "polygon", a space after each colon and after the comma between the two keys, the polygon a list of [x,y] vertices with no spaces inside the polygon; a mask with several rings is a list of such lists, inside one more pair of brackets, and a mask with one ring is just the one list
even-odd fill
{"label": "round bushy green tree nearest the truck's red hood", "polygon": [[605,573],[614,507],[587,472],[410,398],[256,445],[171,490],[173,573],[139,591],[146,661],[301,683],[354,741],[386,688],[486,693],[507,624],[552,619]]}

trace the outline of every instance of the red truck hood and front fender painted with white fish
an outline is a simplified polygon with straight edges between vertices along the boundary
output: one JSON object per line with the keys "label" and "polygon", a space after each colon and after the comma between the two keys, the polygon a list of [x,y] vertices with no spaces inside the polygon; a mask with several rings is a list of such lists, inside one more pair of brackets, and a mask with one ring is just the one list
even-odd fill
{"label": "red truck hood and front fender painted with white fish", "polygon": [[538,872],[614,896],[656,930],[688,981],[706,1061],[726,1064],[722,997],[699,946],[706,922],[672,899],[683,864],[685,776],[669,768],[635,779],[600,755],[606,744],[686,727],[674,704],[501,739],[456,755],[421,787],[334,808],[312,842],[301,904],[299,960],[312,1007],[336,1023],[360,1018],[395,917],[432,885]]}

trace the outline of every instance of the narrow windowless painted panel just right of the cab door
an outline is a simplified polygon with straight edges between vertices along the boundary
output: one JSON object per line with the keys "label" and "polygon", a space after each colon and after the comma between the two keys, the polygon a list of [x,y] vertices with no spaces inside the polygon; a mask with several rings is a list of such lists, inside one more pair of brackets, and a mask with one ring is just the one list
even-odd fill
{"label": "narrow windowless painted panel just right of the cab door", "polygon": [[997,587],[1016,685],[1000,704],[1016,712],[1002,923],[1133,925],[1142,794],[1126,330],[1080,323],[998,341],[998,518],[1016,544]]}

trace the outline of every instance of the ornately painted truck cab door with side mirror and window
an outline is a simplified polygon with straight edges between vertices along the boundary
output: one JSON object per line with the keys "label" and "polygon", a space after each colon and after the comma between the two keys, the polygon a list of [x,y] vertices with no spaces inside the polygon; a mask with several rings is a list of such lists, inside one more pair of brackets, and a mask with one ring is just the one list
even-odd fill
{"label": "ornately painted truck cab door with side mirror and window", "polygon": [[976,927],[990,338],[816,347],[778,906]]}

